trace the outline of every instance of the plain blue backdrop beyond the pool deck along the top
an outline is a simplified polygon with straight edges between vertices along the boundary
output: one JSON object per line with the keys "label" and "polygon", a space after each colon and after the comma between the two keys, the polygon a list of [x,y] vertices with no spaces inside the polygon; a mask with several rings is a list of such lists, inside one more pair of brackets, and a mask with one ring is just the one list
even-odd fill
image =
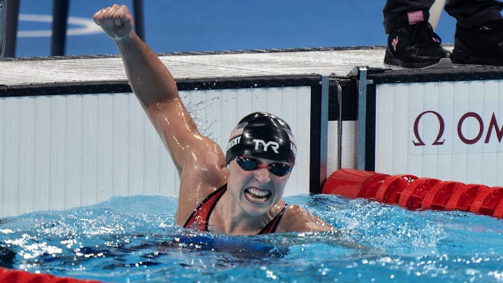
{"label": "plain blue backdrop beyond the pool deck along the top", "polygon": [[[9,1],[9,0],[7,0]],[[384,0],[145,0],[145,40],[155,52],[385,45]],[[8,3],[8,2],[7,2]],[[21,0],[21,15],[52,15],[50,0]],[[116,1],[70,1],[69,16],[92,15]],[[132,1],[122,1],[132,7]],[[132,9],[132,8],[131,8]],[[25,16],[26,17],[26,16]],[[80,24],[69,24],[70,29]],[[16,57],[50,55],[50,22],[20,20]],[[444,12],[437,33],[453,42],[455,21]],[[36,34],[36,32],[35,32]],[[103,33],[68,36],[65,55],[117,54]]]}

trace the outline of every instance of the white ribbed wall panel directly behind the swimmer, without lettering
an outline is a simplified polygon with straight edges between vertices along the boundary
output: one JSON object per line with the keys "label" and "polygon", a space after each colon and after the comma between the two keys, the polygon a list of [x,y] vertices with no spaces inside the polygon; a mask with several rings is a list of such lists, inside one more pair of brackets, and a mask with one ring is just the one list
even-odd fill
{"label": "white ribbed wall panel directly behind the swimmer, without lettering", "polygon": [[[298,143],[285,195],[309,193],[311,87],[180,94],[201,131],[224,150],[245,115],[265,111],[285,119]],[[115,195],[177,195],[177,171],[131,93],[3,97],[0,117],[0,217]]]}

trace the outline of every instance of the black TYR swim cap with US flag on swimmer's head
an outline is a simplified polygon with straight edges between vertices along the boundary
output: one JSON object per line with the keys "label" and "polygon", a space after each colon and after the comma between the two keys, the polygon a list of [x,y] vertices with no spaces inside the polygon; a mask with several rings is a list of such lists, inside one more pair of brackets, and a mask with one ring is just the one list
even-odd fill
{"label": "black TYR swim cap with US flag on swimmer's head", "polygon": [[275,115],[256,112],[242,118],[228,138],[226,164],[235,157],[259,157],[295,164],[297,146],[290,126]]}

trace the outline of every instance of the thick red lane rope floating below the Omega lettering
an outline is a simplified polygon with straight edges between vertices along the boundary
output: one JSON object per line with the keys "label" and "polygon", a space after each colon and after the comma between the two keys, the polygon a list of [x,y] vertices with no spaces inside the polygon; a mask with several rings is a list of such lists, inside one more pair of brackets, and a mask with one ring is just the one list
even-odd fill
{"label": "thick red lane rope floating below the Omega lettering", "polygon": [[503,187],[483,184],[340,169],[327,178],[321,193],[368,198],[409,210],[460,210],[503,218]]}

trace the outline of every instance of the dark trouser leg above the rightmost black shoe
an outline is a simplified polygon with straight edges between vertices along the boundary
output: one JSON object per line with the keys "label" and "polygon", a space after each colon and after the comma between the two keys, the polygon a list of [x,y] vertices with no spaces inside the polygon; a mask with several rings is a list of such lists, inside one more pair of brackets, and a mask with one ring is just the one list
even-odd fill
{"label": "dark trouser leg above the rightmost black shoe", "polygon": [[496,0],[447,0],[445,10],[458,26],[469,29],[500,20],[503,3]]}

